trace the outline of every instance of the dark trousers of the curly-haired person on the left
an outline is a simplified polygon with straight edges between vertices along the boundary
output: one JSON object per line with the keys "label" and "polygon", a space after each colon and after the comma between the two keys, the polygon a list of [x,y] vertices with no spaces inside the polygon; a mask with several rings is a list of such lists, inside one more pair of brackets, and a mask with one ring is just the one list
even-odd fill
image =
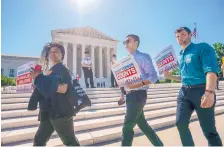
{"label": "dark trousers of the curly-haired person on the left", "polygon": [[34,146],[46,146],[54,130],[66,146],[80,146],[75,137],[73,117],[47,119],[40,122],[34,137]]}

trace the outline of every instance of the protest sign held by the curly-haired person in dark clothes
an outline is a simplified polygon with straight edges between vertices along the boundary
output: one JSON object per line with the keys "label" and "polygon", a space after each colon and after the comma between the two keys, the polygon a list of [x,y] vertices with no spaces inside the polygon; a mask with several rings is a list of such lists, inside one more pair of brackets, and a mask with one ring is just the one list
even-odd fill
{"label": "protest sign held by the curly-haired person in dark clothes", "polygon": [[18,93],[32,92],[32,77],[30,68],[34,67],[35,61],[28,62],[17,69],[16,86]]}

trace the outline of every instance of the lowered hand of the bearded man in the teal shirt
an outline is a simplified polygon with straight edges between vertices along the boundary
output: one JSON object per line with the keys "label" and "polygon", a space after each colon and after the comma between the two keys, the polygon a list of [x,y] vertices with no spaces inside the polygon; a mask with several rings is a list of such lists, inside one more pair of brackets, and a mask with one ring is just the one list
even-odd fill
{"label": "lowered hand of the bearded man in the teal shirt", "polygon": [[215,102],[215,95],[209,92],[201,97],[201,107],[202,108],[211,108]]}

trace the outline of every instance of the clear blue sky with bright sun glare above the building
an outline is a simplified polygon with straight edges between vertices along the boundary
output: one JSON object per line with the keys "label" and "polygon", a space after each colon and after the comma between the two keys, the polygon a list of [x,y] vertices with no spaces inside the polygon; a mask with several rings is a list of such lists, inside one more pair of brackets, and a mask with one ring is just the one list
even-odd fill
{"label": "clear blue sky with bright sun glare above the building", "polygon": [[2,0],[1,53],[40,56],[51,30],[91,26],[119,40],[118,59],[130,33],[152,58],[169,45],[179,54],[174,31],[195,22],[199,42],[224,43],[224,0]]}

